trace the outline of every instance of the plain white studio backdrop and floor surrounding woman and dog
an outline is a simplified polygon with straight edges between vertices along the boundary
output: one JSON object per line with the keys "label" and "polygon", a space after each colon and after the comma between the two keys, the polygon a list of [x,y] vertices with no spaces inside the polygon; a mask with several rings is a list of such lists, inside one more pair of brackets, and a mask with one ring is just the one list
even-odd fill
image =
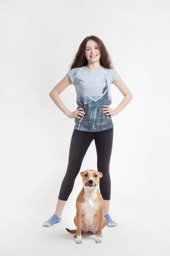
{"label": "plain white studio backdrop and floor surrounding woman and dog", "polygon": [[[164,1],[0,1],[1,256],[169,255],[169,11]],[[102,244],[77,245],[80,175],[63,221],[42,227],[55,210],[66,172],[74,119],[50,99],[84,39],[96,35],[134,98],[114,121],[110,214]],[[112,107],[123,94],[112,86]],[[75,110],[76,92],[61,94]],[[96,168],[90,145],[81,170]]]}

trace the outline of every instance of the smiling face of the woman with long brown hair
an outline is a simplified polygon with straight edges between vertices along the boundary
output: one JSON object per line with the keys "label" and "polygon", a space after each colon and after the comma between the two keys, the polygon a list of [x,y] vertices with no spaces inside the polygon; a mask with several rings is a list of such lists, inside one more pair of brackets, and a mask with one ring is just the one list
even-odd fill
{"label": "smiling face of the woman with long brown hair", "polygon": [[100,62],[101,51],[98,47],[97,42],[92,39],[88,40],[88,42],[86,43],[85,57],[88,60],[88,64],[96,61]]}

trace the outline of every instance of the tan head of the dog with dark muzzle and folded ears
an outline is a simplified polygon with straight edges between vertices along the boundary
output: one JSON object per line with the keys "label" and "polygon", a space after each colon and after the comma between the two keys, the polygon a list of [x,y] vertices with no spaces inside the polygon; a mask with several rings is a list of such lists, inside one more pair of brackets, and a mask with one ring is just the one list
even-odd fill
{"label": "tan head of the dog with dark muzzle and folded ears", "polygon": [[84,170],[80,175],[85,187],[96,187],[103,173],[98,172],[98,170]]}

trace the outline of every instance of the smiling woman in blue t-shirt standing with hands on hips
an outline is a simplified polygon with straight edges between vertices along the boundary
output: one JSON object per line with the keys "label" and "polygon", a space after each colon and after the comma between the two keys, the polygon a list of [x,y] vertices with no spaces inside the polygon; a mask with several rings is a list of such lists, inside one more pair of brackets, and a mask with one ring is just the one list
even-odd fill
{"label": "smiling woman in blue t-shirt standing with hands on hips", "polygon": [[[115,109],[109,107],[111,105],[109,89],[112,83],[124,95],[122,102]],[[66,108],[59,97],[59,94],[70,84],[74,84],[77,92],[77,109],[73,112]],[[96,36],[83,39],[71,69],[50,92],[50,97],[66,116],[74,118],[75,125],[69,148],[69,163],[61,184],[55,213],[42,225],[50,227],[61,222],[63,208],[74,187],[74,180],[80,171],[82,160],[90,143],[95,140],[97,168],[103,173],[99,187],[104,198],[104,217],[109,227],[115,227],[117,223],[109,215],[111,194],[109,161],[114,126],[112,116],[120,113],[133,96],[120,75],[112,68],[109,54],[101,39]]]}

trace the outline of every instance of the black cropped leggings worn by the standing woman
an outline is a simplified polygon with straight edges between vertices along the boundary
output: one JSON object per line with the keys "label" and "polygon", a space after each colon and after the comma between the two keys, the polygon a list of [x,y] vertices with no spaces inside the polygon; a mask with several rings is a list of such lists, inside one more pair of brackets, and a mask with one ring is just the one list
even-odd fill
{"label": "black cropped leggings worn by the standing woman", "polygon": [[82,160],[93,139],[97,152],[97,170],[103,173],[99,183],[101,195],[104,200],[110,200],[109,161],[112,153],[113,127],[102,132],[82,132],[74,129],[69,148],[69,163],[58,199],[68,199],[74,187],[75,178],[80,171]]}

